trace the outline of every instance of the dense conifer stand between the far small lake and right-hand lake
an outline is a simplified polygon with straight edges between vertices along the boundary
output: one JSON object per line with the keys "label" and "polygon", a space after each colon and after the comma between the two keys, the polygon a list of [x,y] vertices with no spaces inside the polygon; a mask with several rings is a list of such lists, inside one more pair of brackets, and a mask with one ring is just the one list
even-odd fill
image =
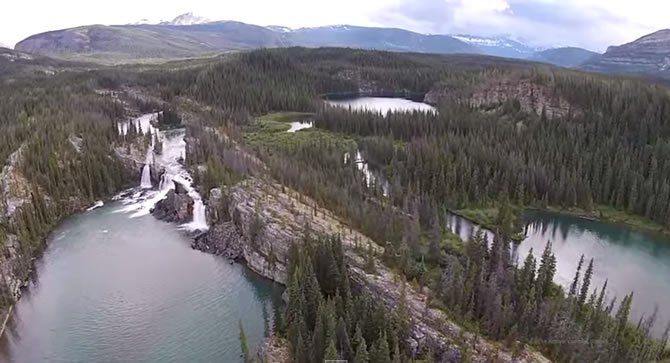
{"label": "dense conifer stand between the far small lake and right-hand lake", "polygon": [[[593,109],[571,118],[502,109],[489,114],[462,103],[443,104],[437,114],[322,107],[315,123],[354,137],[375,136],[362,143],[364,152],[388,167],[390,179],[435,194],[452,208],[489,206],[508,195],[521,205],[608,205],[670,227],[665,91],[555,81],[556,87],[570,82],[575,89],[594,88],[603,95],[600,103],[593,94],[584,97]],[[389,148],[385,139],[404,143]]]}

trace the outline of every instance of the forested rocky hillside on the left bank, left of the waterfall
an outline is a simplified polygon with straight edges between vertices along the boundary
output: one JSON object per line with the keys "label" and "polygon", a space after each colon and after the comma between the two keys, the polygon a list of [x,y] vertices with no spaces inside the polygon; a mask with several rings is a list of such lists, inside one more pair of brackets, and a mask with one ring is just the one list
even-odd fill
{"label": "forested rocky hillside on the left bank, left of the waterfall", "polygon": [[116,125],[126,110],[103,85],[97,73],[0,83],[2,310],[51,228],[130,182],[113,152],[124,142]]}

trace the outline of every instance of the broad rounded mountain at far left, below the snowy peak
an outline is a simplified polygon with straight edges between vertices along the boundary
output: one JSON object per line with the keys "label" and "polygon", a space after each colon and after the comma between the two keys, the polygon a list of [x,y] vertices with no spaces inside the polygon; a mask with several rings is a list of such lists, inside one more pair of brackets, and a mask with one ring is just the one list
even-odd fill
{"label": "broad rounded mountain at far left, below the snowy peak", "polygon": [[90,25],[22,40],[16,49],[105,63],[184,58],[226,50],[285,46],[279,33],[234,21],[196,25]]}

